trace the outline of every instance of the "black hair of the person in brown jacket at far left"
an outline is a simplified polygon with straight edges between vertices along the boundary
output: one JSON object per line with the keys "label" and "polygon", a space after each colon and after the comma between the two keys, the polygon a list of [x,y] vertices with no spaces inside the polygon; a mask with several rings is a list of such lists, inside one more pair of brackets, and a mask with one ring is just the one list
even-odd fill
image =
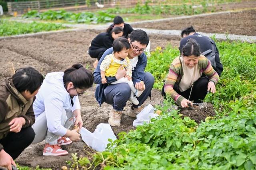
{"label": "black hair of the person in brown jacket at far left", "polygon": [[33,67],[20,68],[12,76],[12,83],[19,92],[34,93],[43,83],[44,76]]}

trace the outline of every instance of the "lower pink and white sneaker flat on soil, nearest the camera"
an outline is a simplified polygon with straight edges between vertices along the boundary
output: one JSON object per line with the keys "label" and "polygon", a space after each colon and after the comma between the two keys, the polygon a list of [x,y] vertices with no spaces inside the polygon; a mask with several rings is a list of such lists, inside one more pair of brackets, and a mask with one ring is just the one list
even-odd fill
{"label": "lower pink and white sneaker flat on soil, nearest the camera", "polygon": [[47,143],[44,146],[44,151],[43,151],[44,156],[63,156],[67,154],[68,154],[68,151],[62,150],[62,148],[58,144],[50,145]]}

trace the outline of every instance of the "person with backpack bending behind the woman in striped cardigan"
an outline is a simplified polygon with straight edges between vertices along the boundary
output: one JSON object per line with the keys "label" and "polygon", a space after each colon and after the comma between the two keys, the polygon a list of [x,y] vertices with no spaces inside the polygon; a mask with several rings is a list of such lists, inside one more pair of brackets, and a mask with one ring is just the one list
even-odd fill
{"label": "person with backpack bending behind the woman in striped cardigan", "polygon": [[200,45],[200,53],[210,60],[212,67],[220,76],[223,71],[223,65],[220,62],[220,54],[215,42],[204,35],[196,33],[193,26],[185,28],[181,32],[182,40],[180,41],[180,53],[182,53],[182,47],[187,43],[189,39],[194,39]]}

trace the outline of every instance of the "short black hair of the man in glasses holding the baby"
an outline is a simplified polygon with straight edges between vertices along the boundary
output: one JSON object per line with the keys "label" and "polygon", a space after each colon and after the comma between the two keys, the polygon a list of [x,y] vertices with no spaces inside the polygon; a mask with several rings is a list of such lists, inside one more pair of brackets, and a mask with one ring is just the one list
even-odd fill
{"label": "short black hair of the man in glasses holding the baby", "polygon": [[131,42],[139,42],[140,44],[148,45],[149,37],[148,34],[143,30],[133,30],[130,34]]}

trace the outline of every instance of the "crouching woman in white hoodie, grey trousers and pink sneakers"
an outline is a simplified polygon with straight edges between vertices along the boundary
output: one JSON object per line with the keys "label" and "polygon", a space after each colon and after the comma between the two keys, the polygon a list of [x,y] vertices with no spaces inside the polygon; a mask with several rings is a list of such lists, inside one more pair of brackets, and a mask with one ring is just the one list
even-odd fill
{"label": "crouching woman in white hoodie, grey trousers and pink sneakers", "polygon": [[[32,144],[45,140],[43,155],[67,155],[60,146],[80,140],[77,130],[83,121],[78,96],[92,84],[92,73],[81,64],[46,75],[33,104],[36,122],[32,126],[36,133]],[[73,124],[79,127],[68,130]]]}

